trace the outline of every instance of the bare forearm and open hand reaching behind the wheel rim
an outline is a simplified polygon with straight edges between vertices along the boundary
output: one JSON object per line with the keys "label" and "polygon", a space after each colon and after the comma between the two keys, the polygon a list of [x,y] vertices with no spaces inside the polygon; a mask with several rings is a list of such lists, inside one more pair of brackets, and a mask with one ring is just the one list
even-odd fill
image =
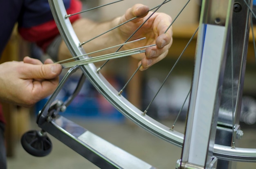
{"label": "bare forearm and open hand reaching behind the wheel rim", "polygon": [[[122,44],[127,38],[147,19],[147,17],[151,14],[148,12],[149,8],[142,5],[136,4],[132,8],[128,9],[126,13],[118,18],[115,18],[109,22],[97,23],[88,19],[79,19],[76,20],[72,25],[74,30],[79,37],[81,42],[86,42],[87,40],[92,39],[93,37],[112,29],[113,27],[134,18],[135,16],[139,16],[137,19],[132,22],[128,22],[123,26],[102,35],[101,37],[88,42],[83,45],[86,53],[90,53],[99,49],[107,48],[110,46],[114,46],[117,44]],[[146,40],[142,40],[140,42],[136,42],[134,44],[125,45],[122,50],[127,50],[130,48],[136,48],[140,46],[146,46],[150,44],[156,44],[156,46],[148,47],[146,49],[146,55],[140,54],[135,55],[136,58],[141,59],[139,61],[139,65],[142,64],[141,70],[145,70],[156,62],[162,60],[166,57],[168,53],[168,49],[172,44],[172,29],[168,29],[166,33],[166,29],[171,24],[172,19],[169,15],[164,13],[155,13],[144,26],[139,29],[139,31],[130,39],[135,40],[141,37],[146,37]],[[111,52],[115,52],[117,49],[112,49]],[[108,52],[110,52],[108,50]],[[97,55],[101,55],[102,53],[98,53]],[[58,54],[58,60],[63,60],[70,58],[71,55],[65,46],[64,42],[61,42]]]}

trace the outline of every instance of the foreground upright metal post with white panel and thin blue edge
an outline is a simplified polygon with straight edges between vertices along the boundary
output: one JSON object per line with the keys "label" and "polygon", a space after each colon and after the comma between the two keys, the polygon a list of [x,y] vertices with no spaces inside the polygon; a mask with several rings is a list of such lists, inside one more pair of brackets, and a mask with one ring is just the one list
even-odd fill
{"label": "foreground upright metal post with white panel and thin blue edge", "polygon": [[202,1],[181,168],[212,165],[232,9],[233,0]]}

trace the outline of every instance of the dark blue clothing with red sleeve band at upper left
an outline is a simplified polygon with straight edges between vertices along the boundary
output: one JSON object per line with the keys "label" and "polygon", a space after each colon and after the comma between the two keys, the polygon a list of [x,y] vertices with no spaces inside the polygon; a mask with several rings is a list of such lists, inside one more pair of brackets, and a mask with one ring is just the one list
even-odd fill
{"label": "dark blue clothing with red sleeve band at upper left", "polygon": [[[67,11],[80,11],[78,0],[63,0]],[[1,0],[0,1],[0,54],[6,46],[13,26],[18,22],[21,36],[28,41],[40,43],[40,47],[49,45],[58,29],[54,22],[48,0]],[[73,18],[74,22],[79,18]],[[51,30],[49,30],[51,26]]]}

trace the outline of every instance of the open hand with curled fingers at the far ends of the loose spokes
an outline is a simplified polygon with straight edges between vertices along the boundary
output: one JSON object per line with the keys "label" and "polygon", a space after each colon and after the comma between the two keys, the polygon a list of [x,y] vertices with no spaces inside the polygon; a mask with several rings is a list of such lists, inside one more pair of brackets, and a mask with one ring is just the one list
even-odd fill
{"label": "open hand with curled fingers at the far ends of the loose spokes", "polygon": [[[149,8],[143,4],[135,4],[132,8],[128,9],[126,13],[117,18],[118,24],[126,22],[131,18],[137,16],[135,20],[128,22],[119,27],[119,38],[122,42],[126,41],[128,37],[150,16],[153,12],[148,12]],[[132,44],[124,45],[123,50],[137,48],[140,46],[147,46],[156,44],[146,48],[146,53],[135,55],[135,58],[141,59],[139,64],[142,64],[140,70],[146,70],[148,67],[162,60],[168,54],[168,49],[173,42],[172,28],[168,28],[172,19],[165,13],[154,13],[148,21],[141,26],[141,28],[132,36],[129,41],[146,37],[146,40],[141,40]],[[164,33],[166,31],[166,33]]]}

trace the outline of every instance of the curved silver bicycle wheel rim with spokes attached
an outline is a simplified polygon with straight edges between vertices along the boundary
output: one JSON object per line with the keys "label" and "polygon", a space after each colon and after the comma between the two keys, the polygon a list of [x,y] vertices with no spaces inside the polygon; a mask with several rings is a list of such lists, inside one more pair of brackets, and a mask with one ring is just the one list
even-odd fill
{"label": "curved silver bicycle wheel rim with spokes attached", "polygon": [[[85,56],[86,53],[81,48],[81,42],[74,33],[72,25],[67,18],[64,4],[62,0],[50,0],[52,13],[65,40],[70,52],[74,57]],[[77,58],[79,60],[83,58]],[[94,64],[86,64],[81,66],[83,74],[97,88],[97,90],[112,104],[119,112],[124,114],[128,119],[147,130],[151,134],[166,140],[169,143],[182,147],[184,143],[184,135],[177,131],[171,131],[158,121],[139,110],[136,106],[130,103],[125,97],[119,95],[118,91],[97,71]],[[256,149],[238,148],[231,149],[230,146],[214,145],[213,155],[224,160],[248,161],[256,162]]]}

